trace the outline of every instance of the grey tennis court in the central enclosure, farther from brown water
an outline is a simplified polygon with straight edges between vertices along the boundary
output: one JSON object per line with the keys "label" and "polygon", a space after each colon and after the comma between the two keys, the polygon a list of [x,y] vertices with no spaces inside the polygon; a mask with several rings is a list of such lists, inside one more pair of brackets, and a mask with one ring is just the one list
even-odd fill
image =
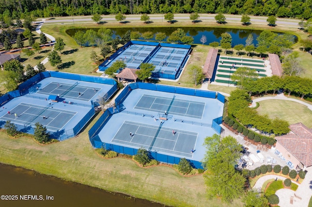
{"label": "grey tennis court in the central enclosure, farther from brown water", "polygon": [[205,103],[143,94],[134,108],[202,119]]}

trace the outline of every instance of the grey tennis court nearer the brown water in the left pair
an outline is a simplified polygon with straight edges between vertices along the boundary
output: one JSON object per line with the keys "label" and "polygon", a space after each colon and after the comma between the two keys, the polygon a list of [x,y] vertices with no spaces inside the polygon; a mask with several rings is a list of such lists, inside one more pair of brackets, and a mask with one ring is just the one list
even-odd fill
{"label": "grey tennis court nearer the brown water in the left pair", "polygon": [[1,120],[11,121],[24,126],[35,126],[35,123],[39,122],[49,131],[59,131],[77,112],[56,109],[49,105],[45,107],[20,103],[10,111],[10,114],[3,115]]}

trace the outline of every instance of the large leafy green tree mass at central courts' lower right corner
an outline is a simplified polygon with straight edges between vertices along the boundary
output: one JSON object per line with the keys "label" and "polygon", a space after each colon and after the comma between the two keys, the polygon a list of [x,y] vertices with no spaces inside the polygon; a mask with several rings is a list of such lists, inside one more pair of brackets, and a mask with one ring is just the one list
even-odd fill
{"label": "large leafy green tree mass at central courts' lower right corner", "polygon": [[203,166],[208,172],[204,174],[208,195],[231,202],[242,194],[246,181],[234,167],[241,156],[242,147],[235,138],[228,136],[220,140],[216,134],[205,138],[203,145],[207,149]]}

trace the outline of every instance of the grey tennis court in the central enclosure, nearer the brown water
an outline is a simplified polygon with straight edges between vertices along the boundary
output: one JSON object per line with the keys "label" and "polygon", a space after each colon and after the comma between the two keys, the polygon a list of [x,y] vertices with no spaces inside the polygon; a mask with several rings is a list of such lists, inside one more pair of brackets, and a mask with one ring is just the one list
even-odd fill
{"label": "grey tennis court in the central enclosure, nearer the brown water", "polygon": [[[174,131],[174,133],[173,133]],[[131,136],[130,136],[131,133]],[[191,158],[198,133],[124,121],[112,142]]]}

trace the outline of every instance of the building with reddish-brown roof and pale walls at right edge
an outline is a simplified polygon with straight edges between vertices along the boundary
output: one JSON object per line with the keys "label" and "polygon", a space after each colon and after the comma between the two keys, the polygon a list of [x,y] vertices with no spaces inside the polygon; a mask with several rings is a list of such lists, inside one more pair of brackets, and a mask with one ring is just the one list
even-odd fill
{"label": "building with reddish-brown roof and pale walls at right edge", "polygon": [[275,138],[276,150],[291,161],[296,170],[305,170],[312,166],[312,129],[301,122],[289,128],[290,133]]}

